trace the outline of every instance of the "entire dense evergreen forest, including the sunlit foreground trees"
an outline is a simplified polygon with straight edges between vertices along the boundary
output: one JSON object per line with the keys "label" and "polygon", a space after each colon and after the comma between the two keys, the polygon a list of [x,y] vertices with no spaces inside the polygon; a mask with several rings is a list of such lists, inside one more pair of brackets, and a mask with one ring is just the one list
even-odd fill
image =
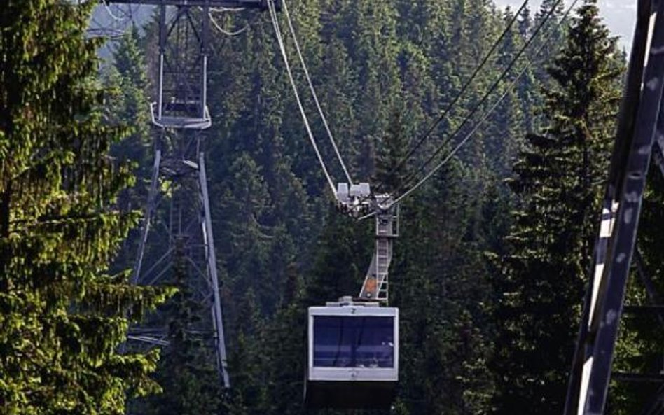
{"label": "entire dense evergreen forest, including the sunlit foreground trees", "polygon": [[[123,414],[131,401],[155,415],[309,413],[306,309],[359,293],[373,224],[341,215],[328,194],[268,14],[217,15],[229,30],[247,29],[215,31],[209,62],[213,125],[204,148],[233,384],[222,390],[207,351],[186,336],[195,318],[188,290],[179,281],[131,286],[126,272],[158,134],[148,106],[157,16],[114,41],[112,62],[102,65],[101,41],[84,36],[90,5],[27,3],[0,10],[8,28],[0,32],[1,412]],[[390,277],[400,381],[389,413],[562,413],[625,66],[596,1],[567,17],[555,0],[518,16],[490,0],[291,0],[289,8],[356,181],[403,190],[441,143],[442,158],[471,131],[464,117],[476,105],[473,121],[506,94],[401,204]],[[305,90],[301,68],[294,75]],[[315,108],[307,94],[305,107]],[[312,129],[325,136],[318,120]],[[332,173],[343,178],[337,165]],[[639,248],[662,285],[657,179]],[[628,295],[645,297],[637,286]],[[128,325],[164,302],[171,346],[121,353]],[[625,324],[639,330],[639,322]],[[621,340],[622,369],[660,359],[661,333],[649,328]],[[634,413],[648,392],[611,387],[611,414]]]}

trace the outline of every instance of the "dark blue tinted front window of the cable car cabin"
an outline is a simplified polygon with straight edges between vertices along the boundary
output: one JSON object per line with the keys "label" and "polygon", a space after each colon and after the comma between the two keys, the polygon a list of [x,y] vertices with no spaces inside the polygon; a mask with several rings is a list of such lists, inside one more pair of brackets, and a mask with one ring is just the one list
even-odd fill
{"label": "dark blue tinted front window of the cable car cabin", "polygon": [[394,367],[394,319],[314,316],[314,366]]}

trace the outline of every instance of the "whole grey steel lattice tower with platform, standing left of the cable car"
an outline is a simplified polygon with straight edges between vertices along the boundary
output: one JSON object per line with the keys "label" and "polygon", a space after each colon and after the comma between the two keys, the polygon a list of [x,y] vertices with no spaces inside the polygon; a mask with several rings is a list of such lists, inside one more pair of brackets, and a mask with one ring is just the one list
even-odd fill
{"label": "whole grey steel lattice tower with platform, standing left of the cable car", "polygon": [[[207,309],[188,328],[214,351],[221,383],[226,369],[223,315],[216,269],[209,191],[202,151],[212,120],[207,103],[211,8],[267,9],[267,0],[111,0],[158,7],[159,55],[155,102],[155,157],[132,282],[174,283],[186,275],[193,300]],[[182,283],[182,281],[179,281]],[[130,329],[129,340],[168,346],[167,322],[157,316]],[[212,356],[211,356],[212,359]]]}

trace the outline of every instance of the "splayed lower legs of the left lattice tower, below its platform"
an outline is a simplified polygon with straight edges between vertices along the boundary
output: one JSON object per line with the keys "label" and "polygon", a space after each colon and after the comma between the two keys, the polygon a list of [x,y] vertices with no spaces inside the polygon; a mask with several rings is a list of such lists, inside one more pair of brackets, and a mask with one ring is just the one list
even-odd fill
{"label": "splayed lower legs of the left lattice tower, below its platform", "polygon": [[[184,270],[184,283],[191,300],[200,304],[205,315],[191,322],[186,330],[200,337],[209,350],[209,363],[216,360],[220,381],[228,388],[226,343],[216,269],[212,213],[209,207],[204,153],[200,151],[200,132],[166,133],[158,140],[152,181],[145,209],[141,239],[132,282],[141,285],[176,283]],[[166,148],[168,150],[160,150]],[[162,183],[170,183],[162,187]],[[136,347],[167,347],[167,318],[148,316],[143,325],[132,327],[128,336]],[[141,346],[141,344],[143,346]],[[214,352],[213,352],[214,351]]]}

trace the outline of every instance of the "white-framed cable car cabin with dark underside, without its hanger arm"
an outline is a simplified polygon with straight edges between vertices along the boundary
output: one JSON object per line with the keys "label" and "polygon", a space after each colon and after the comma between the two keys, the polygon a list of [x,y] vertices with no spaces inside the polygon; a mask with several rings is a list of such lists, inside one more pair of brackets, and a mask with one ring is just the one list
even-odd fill
{"label": "white-framed cable car cabin with dark underside, without its hanger arm", "polygon": [[308,333],[308,407],[390,407],[399,380],[399,309],[375,303],[310,307]]}

